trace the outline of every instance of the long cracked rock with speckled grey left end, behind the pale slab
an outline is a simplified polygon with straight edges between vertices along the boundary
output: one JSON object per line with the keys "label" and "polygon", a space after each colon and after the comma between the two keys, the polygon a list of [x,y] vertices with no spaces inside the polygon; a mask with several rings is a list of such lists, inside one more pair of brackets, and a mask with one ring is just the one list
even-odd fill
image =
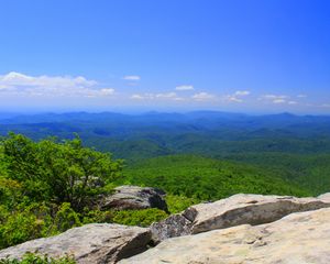
{"label": "long cracked rock with speckled grey left end, behind the pale slab", "polygon": [[[330,207],[330,199],[283,196],[234,195],[227,199],[189,207],[151,227],[157,243],[168,238],[196,234],[240,224],[262,224],[276,221],[289,213]],[[183,220],[185,219],[185,220]],[[180,232],[183,231],[183,232]]]}

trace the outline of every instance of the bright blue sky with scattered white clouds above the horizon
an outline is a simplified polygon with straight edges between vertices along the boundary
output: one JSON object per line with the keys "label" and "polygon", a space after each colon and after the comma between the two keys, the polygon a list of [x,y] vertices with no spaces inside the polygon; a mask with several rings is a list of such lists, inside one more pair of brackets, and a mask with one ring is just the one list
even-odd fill
{"label": "bright blue sky with scattered white clouds above the horizon", "polygon": [[328,0],[3,0],[0,110],[330,113]]}

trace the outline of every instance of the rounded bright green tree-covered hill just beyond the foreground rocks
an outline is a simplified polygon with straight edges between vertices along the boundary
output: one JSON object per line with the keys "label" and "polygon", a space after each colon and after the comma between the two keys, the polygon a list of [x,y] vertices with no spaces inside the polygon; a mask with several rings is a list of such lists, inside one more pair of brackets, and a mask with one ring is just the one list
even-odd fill
{"label": "rounded bright green tree-covered hill just beyond the foreground rocks", "polygon": [[217,161],[194,155],[151,158],[124,170],[118,180],[148,185],[168,194],[215,200],[245,194],[308,196],[309,191],[276,175],[251,165]]}

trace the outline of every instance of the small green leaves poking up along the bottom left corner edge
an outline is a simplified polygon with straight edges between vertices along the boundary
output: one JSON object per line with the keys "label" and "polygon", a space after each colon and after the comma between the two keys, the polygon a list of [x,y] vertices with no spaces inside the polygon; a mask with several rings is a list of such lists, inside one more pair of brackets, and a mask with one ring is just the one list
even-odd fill
{"label": "small green leaves poking up along the bottom left corner edge", "polygon": [[54,258],[47,255],[28,253],[22,257],[22,260],[0,260],[0,264],[76,264],[76,261],[74,257],[68,255]]}

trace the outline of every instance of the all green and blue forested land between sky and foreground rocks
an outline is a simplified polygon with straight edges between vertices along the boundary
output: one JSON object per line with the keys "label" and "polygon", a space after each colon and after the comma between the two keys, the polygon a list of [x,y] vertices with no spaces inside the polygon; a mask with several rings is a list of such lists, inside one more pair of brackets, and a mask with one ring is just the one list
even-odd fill
{"label": "all green and blue forested land between sky and foreground rocks", "polygon": [[169,213],[238,193],[330,189],[328,117],[2,114],[0,133],[0,249],[90,222],[145,227],[168,216],[95,206],[120,185],[164,189]]}

